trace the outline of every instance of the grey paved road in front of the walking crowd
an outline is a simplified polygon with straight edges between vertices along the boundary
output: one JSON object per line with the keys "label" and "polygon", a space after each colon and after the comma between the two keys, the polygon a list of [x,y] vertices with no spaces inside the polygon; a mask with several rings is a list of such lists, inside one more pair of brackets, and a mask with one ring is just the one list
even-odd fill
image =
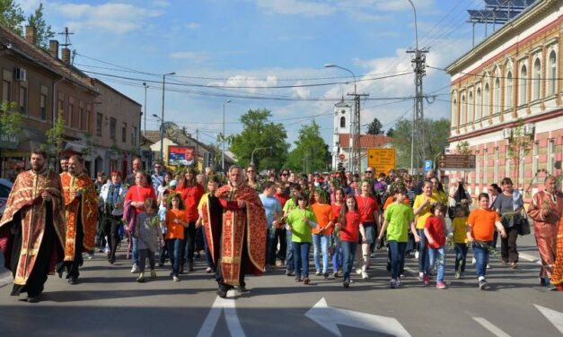
{"label": "grey paved road in front of the walking crowd", "polygon": [[[520,243],[526,258],[537,258],[531,236],[520,238]],[[0,288],[0,335],[563,334],[563,294],[538,285],[538,265],[533,262],[522,261],[513,271],[494,259],[488,271],[492,289],[479,291],[471,265],[467,279],[453,280],[450,252],[448,289],[424,287],[414,273],[406,275],[402,289],[389,289],[384,255],[374,258],[371,279],[356,280],[350,289],[342,288],[341,279],[325,281],[314,275],[309,286],[296,284],[278,270],[250,278],[249,293],[241,296],[232,291],[226,300],[216,297],[216,282],[203,272],[203,261],[198,261],[196,272],[182,275],[180,282],[172,282],[169,269],[163,267],[156,280],[139,284],[123,259],[110,265],[97,255],[85,261],[80,284],[70,286],[49,277],[39,304],[10,297],[11,284]],[[416,265],[415,259],[407,262],[413,271]],[[393,328],[397,329],[394,333],[389,330]]]}

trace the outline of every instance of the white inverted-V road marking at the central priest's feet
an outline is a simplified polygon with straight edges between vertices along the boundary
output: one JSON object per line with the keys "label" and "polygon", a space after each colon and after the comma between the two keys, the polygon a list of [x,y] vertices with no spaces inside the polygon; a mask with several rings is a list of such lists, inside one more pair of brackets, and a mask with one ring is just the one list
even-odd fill
{"label": "white inverted-V road marking at the central priest's feet", "polygon": [[241,322],[239,322],[239,317],[236,315],[234,303],[234,299],[220,298],[217,296],[211,310],[209,310],[209,314],[207,314],[205,322],[199,329],[198,337],[211,337],[213,335],[222,312],[224,312],[224,319],[227,322],[227,328],[231,336],[244,337],[245,334],[242,330]]}

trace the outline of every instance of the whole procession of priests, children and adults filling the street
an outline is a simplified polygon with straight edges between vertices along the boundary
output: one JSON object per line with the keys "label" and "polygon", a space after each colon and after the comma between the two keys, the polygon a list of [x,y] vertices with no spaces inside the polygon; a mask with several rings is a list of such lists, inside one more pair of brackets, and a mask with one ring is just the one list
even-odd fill
{"label": "whole procession of priests, children and adults filling the street", "polygon": [[[80,156],[63,158],[60,172],[46,165],[43,151],[31,153],[31,169],[16,178],[2,220],[0,249],[13,272],[12,295],[27,292],[39,300],[48,274],[79,282],[83,253],[97,252],[115,264],[119,247],[130,259],[135,280],[157,277],[156,266],[170,266],[180,281],[194,272],[194,258],[205,258],[214,273],[217,295],[237,287],[245,292],[245,275],[283,268],[295,282],[312,276],[341,280],[348,288],[369,279],[371,258],[387,247],[390,288],[401,287],[405,259],[418,259],[418,279],[446,289],[446,251],[453,250],[454,277],[466,277],[468,253],[477,286],[488,289],[489,256],[500,236],[501,263],[517,269],[516,241],[530,233],[541,255],[541,285],[563,289],[563,194],[557,179],[545,178],[527,211],[523,195],[506,177],[474,195],[462,178],[448,191],[430,170],[419,181],[391,170],[368,167],[361,175],[333,172],[300,175],[289,169],[268,170],[260,177],[253,165],[166,171],[156,162],[152,174],[134,159],[122,177],[98,173],[92,182]],[[446,220],[449,218],[449,220]],[[311,255],[312,254],[312,259]],[[312,262],[312,264],[311,264]]]}

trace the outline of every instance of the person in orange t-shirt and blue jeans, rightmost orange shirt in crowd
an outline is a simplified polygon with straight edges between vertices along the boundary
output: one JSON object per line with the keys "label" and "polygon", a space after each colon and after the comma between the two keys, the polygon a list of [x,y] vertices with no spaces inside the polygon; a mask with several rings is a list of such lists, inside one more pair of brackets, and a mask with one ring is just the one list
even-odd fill
{"label": "person in orange t-shirt and blue jeans, rightmost orange shirt in crowd", "polygon": [[479,194],[479,208],[470,213],[467,219],[467,239],[472,243],[473,255],[476,264],[479,289],[488,289],[488,282],[485,279],[488,264],[488,250],[491,248],[493,237],[495,235],[495,227],[500,232],[502,238],[506,238],[506,231],[498,213],[488,208],[488,194]]}

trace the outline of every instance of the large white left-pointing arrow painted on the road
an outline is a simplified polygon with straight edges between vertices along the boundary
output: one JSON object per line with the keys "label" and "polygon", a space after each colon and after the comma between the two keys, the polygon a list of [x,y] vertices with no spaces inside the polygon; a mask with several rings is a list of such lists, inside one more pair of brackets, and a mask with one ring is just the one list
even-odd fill
{"label": "large white left-pointing arrow painted on the road", "polygon": [[317,304],[309,309],[305,316],[339,337],[342,337],[342,333],[340,333],[338,324],[391,334],[397,337],[410,337],[409,332],[395,318],[329,307],[324,298],[321,298]]}

